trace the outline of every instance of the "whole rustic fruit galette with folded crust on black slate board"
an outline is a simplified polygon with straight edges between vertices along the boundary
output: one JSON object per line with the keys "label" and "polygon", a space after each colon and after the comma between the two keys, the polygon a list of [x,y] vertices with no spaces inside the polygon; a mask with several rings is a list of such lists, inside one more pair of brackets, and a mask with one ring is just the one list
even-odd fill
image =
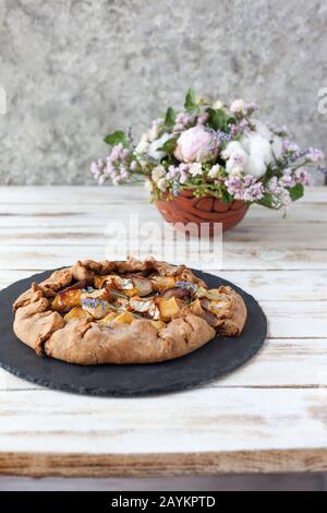
{"label": "whole rustic fruit galette with folded crust on black slate board", "polygon": [[217,335],[239,336],[246,320],[231,287],[209,289],[186,266],[155,259],[77,262],[34,283],[13,310],[24,344],[85,366],[179,358]]}

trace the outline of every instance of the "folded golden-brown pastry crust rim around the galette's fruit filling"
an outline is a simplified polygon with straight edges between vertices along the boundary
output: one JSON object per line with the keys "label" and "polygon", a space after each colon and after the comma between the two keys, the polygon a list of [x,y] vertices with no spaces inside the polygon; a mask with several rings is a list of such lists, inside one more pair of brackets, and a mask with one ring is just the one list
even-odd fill
{"label": "folded golden-brown pastry crust rim around the galette's fruit filling", "polygon": [[[15,335],[38,355],[47,355],[70,363],[150,363],[179,358],[205,345],[216,336],[239,335],[246,320],[243,299],[230,287],[217,289],[222,298],[219,314],[213,325],[210,313],[202,305],[185,306],[181,313],[162,327],[150,319],[134,319],[131,323],[112,326],[93,318],[66,320],[53,311],[53,299],[62,289],[76,282],[85,284],[112,273],[155,272],[162,277],[179,277],[206,290],[207,285],[183,265],[148,259],[138,262],[77,262],[74,266],[56,271],[41,284],[34,283],[13,305]],[[226,299],[226,301],[223,301]],[[209,321],[208,321],[209,319]]]}

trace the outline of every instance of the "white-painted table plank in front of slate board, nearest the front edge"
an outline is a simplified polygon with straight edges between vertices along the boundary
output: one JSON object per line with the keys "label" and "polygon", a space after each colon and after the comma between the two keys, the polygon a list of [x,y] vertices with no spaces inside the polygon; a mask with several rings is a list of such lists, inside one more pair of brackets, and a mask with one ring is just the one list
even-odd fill
{"label": "white-painted table plank in front of slate board, nearest the front edge", "polygon": [[119,399],[0,392],[0,452],[94,454],[318,449],[327,390],[197,389]]}

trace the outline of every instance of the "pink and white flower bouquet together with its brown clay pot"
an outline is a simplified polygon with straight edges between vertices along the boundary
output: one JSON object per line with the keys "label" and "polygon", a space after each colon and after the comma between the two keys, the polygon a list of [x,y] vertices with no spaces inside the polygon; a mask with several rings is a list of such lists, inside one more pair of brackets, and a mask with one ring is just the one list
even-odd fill
{"label": "pink and white flower bouquet together with its brown clay pot", "polygon": [[256,111],[253,103],[208,102],[190,88],[184,109],[169,107],[137,144],[131,129],[107,135],[110,154],[92,172],[100,184],[145,181],[169,222],[222,222],[229,229],[252,203],[289,207],[324,154],[301,150],[284,127],[259,121]]}

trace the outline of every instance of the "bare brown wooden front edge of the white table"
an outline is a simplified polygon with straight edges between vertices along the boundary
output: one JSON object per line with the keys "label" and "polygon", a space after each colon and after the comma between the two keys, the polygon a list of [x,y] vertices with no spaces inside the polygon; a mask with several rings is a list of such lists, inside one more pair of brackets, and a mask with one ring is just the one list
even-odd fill
{"label": "bare brown wooden front edge of the white table", "polygon": [[[28,477],[154,477],[323,473],[326,449],[174,454],[0,453],[0,475]],[[106,488],[107,489],[107,488]]]}

